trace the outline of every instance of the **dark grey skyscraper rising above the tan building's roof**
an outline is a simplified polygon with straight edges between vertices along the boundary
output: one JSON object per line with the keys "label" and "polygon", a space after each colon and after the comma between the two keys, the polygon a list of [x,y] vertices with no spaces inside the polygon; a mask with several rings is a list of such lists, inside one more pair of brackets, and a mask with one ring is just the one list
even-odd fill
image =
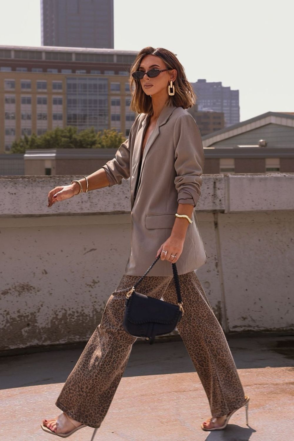
{"label": "dark grey skyscraper rising above the tan building's roof", "polygon": [[41,0],[41,44],[113,49],[113,0]]}

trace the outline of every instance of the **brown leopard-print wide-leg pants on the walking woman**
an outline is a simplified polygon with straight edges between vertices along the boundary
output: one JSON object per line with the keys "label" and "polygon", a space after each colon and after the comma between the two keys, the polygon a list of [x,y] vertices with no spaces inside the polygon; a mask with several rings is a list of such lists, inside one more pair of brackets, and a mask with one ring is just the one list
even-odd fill
{"label": "brown leopard-print wide-leg pants on the walking woman", "polygon": [[[87,426],[99,427],[107,414],[136,340],[124,331],[122,323],[125,295],[139,278],[123,275],[56,400],[57,407]],[[179,275],[179,282],[184,314],[177,329],[205,389],[211,414],[220,417],[242,406],[244,391],[223,330],[196,273]],[[137,291],[177,303],[173,276],[146,276]]]}

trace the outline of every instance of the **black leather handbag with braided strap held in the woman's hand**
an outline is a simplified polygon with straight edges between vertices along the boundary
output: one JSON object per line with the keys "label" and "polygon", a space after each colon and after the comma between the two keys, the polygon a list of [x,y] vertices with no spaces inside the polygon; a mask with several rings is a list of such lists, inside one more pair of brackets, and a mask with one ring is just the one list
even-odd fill
{"label": "black leather handbag with braided strap held in the woman's hand", "polygon": [[179,284],[179,276],[175,263],[172,263],[172,270],[175,280],[175,290],[178,296],[178,304],[164,302],[154,299],[145,294],[136,292],[138,284],[144,279],[153,265],[160,259],[160,255],[149,266],[144,276],[127,292],[126,308],[123,318],[124,330],[134,337],[143,337],[153,344],[157,335],[168,334],[173,331],[182,318],[184,313],[182,307],[182,297]]}

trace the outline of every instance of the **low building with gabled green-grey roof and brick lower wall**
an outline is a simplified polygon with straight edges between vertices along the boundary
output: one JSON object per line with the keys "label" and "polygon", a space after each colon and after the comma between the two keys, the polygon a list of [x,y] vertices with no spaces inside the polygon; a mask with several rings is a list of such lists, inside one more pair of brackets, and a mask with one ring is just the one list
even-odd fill
{"label": "low building with gabled green-grey roof and brick lower wall", "polygon": [[205,174],[294,172],[294,114],[266,112],[202,137]]}

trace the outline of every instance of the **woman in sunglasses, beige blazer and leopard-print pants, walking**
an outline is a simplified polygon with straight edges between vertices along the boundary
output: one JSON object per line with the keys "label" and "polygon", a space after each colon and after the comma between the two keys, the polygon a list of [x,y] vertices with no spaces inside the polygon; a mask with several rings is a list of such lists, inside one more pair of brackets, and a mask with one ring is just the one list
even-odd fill
{"label": "woman in sunglasses, beige blazer and leopard-print pants, walking", "polygon": [[224,429],[234,411],[248,409],[227,340],[194,271],[207,260],[194,211],[205,158],[200,131],[186,110],[196,96],[179,60],[163,48],[138,53],[130,90],[131,109],[139,115],[115,158],[92,175],[48,193],[50,207],[81,191],[130,178],[131,247],[125,273],[56,400],[63,413],[41,425],[63,437],[85,426],[96,428],[94,437],[100,427],[136,340],[123,330],[125,295],[159,254],[140,292],[176,303],[171,263],[177,263],[185,311],[177,328],[212,413],[201,428]]}

